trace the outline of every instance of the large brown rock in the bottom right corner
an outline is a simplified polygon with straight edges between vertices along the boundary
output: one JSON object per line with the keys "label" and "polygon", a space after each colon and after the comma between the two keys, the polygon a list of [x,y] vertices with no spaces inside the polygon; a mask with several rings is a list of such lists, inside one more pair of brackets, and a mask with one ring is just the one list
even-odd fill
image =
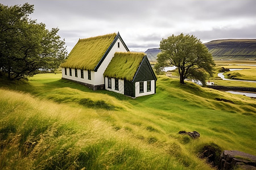
{"label": "large brown rock in the bottom right corner", "polygon": [[241,151],[224,150],[220,155],[218,169],[254,169],[256,170],[256,156]]}

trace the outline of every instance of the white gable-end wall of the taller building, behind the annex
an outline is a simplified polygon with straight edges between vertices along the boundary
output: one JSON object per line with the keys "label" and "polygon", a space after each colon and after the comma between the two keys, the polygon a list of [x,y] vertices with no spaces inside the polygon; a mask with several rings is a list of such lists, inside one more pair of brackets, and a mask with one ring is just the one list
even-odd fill
{"label": "white gable-end wall of the taller building, behind the annex", "polygon": [[[117,47],[117,44],[119,42],[119,48]],[[111,59],[114,57],[115,52],[127,52],[125,49],[125,46],[123,46],[120,39],[118,39],[110,52],[108,53],[108,56],[104,59],[104,61],[101,63],[101,66],[98,68],[97,72],[95,72],[95,84],[94,85],[100,85],[104,84],[104,71],[106,70],[106,67],[108,67]]]}

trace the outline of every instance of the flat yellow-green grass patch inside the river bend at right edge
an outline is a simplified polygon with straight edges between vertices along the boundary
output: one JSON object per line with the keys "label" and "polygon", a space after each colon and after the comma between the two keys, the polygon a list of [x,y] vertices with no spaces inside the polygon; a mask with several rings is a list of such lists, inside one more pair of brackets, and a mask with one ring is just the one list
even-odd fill
{"label": "flat yellow-green grass patch inside the river bend at right edge", "polygon": [[[228,71],[224,73],[229,79],[239,79],[239,80],[253,80],[256,81],[256,67],[254,69],[244,69]],[[256,87],[256,84],[255,84]]]}

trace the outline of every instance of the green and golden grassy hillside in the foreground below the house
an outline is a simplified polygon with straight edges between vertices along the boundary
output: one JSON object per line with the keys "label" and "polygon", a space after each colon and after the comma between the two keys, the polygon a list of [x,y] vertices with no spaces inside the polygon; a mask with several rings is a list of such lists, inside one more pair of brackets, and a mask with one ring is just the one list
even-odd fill
{"label": "green and golden grassy hillside in the foreground below the house", "polygon": [[166,76],[156,95],[137,99],[91,91],[60,74],[28,83],[0,78],[0,169],[211,169],[199,158],[205,145],[256,155],[250,97]]}

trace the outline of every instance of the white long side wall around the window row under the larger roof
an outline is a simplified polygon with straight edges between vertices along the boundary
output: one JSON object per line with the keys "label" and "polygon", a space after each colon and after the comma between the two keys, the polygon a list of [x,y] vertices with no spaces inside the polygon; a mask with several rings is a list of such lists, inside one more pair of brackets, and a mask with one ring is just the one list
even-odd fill
{"label": "white long side wall around the window row under the larger roof", "polygon": [[89,80],[87,70],[83,70],[84,71],[84,78],[81,78],[81,70],[80,69],[77,69],[77,77],[75,76],[75,69],[71,69],[71,70],[72,70],[72,76],[69,75],[69,68],[67,68],[67,75],[65,75],[65,68],[62,68],[62,77],[66,78],[66,79],[75,80],[75,81],[78,81],[78,82],[94,84],[94,81],[95,81],[94,71],[90,71],[91,79]]}

